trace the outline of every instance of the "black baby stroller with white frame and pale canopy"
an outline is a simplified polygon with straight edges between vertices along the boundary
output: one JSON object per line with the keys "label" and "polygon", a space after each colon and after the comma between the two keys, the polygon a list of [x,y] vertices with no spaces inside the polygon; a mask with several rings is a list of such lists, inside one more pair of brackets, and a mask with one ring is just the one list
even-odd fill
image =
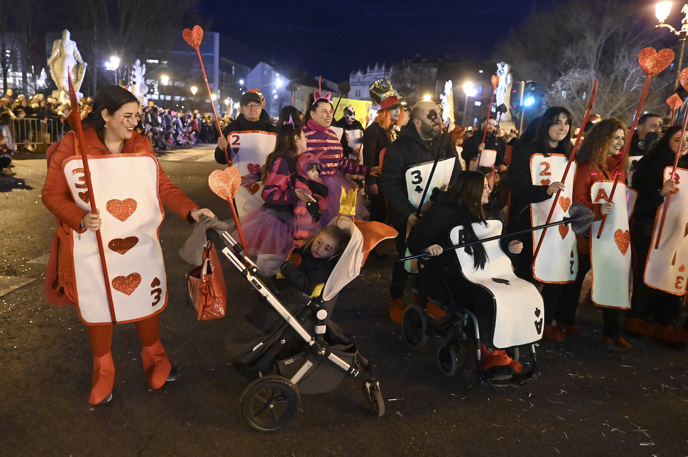
{"label": "black baby stroller with white frame and pale canopy", "polygon": [[258,277],[256,265],[241,246],[229,233],[220,233],[226,244],[222,253],[264,298],[226,341],[233,366],[249,378],[257,377],[241,394],[241,414],[261,432],[277,431],[292,421],[299,408],[299,392],[330,392],[349,376],[363,381],[372,414],[385,414],[374,365],[330,321],[339,291],[361,271],[365,262],[362,247],[369,242],[347,217],[336,217],[330,224],[349,231],[351,240],[325,284],[316,287],[310,297],[296,288],[270,290],[272,281]]}

